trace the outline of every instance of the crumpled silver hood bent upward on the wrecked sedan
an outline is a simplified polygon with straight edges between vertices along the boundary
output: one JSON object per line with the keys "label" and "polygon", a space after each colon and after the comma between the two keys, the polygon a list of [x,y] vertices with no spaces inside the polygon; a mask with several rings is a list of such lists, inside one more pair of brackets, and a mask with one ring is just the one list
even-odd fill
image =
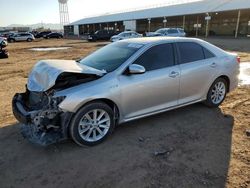
{"label": "crumpled silver hood bent upward on the wrecked sedan", "polygon": [[100,71],[74,60],[42,60],[32,69],[27,88],[30,91],[43,92],[52,88],[58,76],[62,73],[82,73],[103,76],[106,71]]}

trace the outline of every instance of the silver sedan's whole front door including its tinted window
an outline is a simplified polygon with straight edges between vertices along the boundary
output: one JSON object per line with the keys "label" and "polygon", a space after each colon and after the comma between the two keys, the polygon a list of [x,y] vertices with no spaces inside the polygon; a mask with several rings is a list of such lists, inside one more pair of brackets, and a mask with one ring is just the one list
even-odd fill
{"label": "silver sedan's whole front door including its tinted window", "polygon": [[144,74],[119,77],[125,119],[153,113],[178,104],[179,66],[173,44],[153,46],[133,64],[145,67]]}

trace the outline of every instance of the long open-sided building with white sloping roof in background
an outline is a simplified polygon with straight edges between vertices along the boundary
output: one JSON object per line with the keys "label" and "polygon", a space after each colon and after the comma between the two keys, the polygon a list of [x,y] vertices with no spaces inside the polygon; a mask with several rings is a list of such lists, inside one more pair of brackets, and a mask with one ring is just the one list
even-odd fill
{"label": "long open-sided building with white sloping roof in background", "polygon": [[85,35],[96,30],[136,30],[182,27],[190,35],[247,36],[250,0],[178,1],[178,4],[83,18],[64,27],[65,34]]}

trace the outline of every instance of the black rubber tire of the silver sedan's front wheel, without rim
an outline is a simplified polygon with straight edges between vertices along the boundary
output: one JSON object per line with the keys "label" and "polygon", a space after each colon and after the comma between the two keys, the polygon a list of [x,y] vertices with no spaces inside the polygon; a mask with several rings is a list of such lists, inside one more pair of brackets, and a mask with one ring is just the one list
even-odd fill
{"label": "black rubber tire of the silver sedan's front wheel, without rim", "polygon": [[[86,141],[84,140],[80,133],[79,133],[79,123],[82,120],[82,118],[84,117],[85,114],[87,114],[88,112],[92,111],[92,110],[104,110],[105,112],[107,112],[107,115],[110,118],[110,126],[108,128],[107,133],[100,138],[97,141]],[[89,103],[85,106],[83,106],[73,117],[71,124],[69,126],[69,134],[71,136],[71,138],[73,139],[73,141],[78,144],[79,146],[94,146],[97,144],[100,144],[101,142],[103,142],[114,130],[115,127],[115,123],[114,123],[114,112],[113,110],[105,103],[102,102],[93,102],[93,103]],[[99,127],[100,128],[100,127]],[[89,131],[89,129],[88,129]],[[86,131],[86,132],[88,132]],[[92,134],[92,133],[91,133]]]}

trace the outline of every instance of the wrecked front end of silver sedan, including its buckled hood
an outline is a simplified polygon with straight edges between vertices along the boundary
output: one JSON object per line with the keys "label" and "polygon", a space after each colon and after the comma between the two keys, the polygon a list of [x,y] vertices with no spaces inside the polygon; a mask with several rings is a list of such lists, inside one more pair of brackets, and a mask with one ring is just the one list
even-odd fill
{"label": "wrecked front end of silver sedan, including its buckled hood", "polygon": [[102,74],[72,61],[49,60],[35,65],[26,92],[15,94],[12,100],[13,114],[21,123],[22,135],[42,146],[68,139],[68,125],[74,113],[59,108],[66,96],[56,93],[96,80]]}

